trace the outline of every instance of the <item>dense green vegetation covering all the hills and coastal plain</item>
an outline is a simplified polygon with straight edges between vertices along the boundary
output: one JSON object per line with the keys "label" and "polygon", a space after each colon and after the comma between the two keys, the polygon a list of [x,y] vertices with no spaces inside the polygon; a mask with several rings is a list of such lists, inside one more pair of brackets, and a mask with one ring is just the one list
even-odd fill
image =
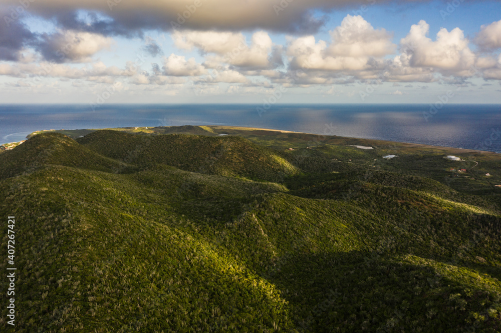
{"label": "dense green vegetation covering all the hills and coastal plain", "polygon": [[2,331],[501,330],[498,154],[221,126],[62,132],[0,153],[18,276]]}

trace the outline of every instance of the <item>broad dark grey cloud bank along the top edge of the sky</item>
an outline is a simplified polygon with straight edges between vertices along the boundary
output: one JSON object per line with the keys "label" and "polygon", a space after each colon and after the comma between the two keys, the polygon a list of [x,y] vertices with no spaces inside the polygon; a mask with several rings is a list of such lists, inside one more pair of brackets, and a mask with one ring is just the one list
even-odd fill
{"label": "broad dark grey cloud bank along the top edge of the sky", "polygon": [[[9,9],[19,5],[14,0],[0,0],[2,3],[10,5]],[[324,26],[326,13],[335,9],[359,9],[361,5],[368,5],[367,0],[42,0],[30,1],[27,11],[54,20],[63,29],[108,36],[141,36],[146,30],[167,31],[180,27],[219,31],[266,29],[304,34],[317,32]]]}

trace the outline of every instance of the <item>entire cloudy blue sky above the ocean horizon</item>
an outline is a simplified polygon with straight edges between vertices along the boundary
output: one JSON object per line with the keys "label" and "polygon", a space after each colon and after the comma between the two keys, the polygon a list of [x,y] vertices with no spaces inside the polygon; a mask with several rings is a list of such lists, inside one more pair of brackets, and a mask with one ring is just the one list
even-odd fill
{"label": "entire cloudy blue sky above the ocean horizon", "polygon": [[501,2],[0,0],[0,103],[501,103]]}

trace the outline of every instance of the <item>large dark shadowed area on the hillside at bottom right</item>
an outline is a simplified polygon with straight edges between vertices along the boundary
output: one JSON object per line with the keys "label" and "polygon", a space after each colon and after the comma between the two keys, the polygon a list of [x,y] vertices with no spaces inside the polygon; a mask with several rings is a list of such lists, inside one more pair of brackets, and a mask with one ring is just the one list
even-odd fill
{"label": "large dark shadowed area on the hillside at bottom right", "polygon": [[[497,318],[486,315],[499,297],[472,284],[464,272],[453,279],[446,276],[441,264],[360,251],[297,253],[265,277],[283,291],[291,317],[304,331],[500,328]],[[408,317],[414,320],[408,322]]]}

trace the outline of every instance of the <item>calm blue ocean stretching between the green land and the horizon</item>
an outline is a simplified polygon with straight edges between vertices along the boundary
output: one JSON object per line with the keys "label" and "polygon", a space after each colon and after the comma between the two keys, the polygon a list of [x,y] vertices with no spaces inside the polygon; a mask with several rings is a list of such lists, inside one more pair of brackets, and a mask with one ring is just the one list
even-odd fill
{"label": "calm blue ocean stretching between the green land and the horizon", "polygon": [[[501,152],[501,104],[0,104],[0,143],[39,129],[235,125]],[[264,112],[263,112],[264,111]]]}

